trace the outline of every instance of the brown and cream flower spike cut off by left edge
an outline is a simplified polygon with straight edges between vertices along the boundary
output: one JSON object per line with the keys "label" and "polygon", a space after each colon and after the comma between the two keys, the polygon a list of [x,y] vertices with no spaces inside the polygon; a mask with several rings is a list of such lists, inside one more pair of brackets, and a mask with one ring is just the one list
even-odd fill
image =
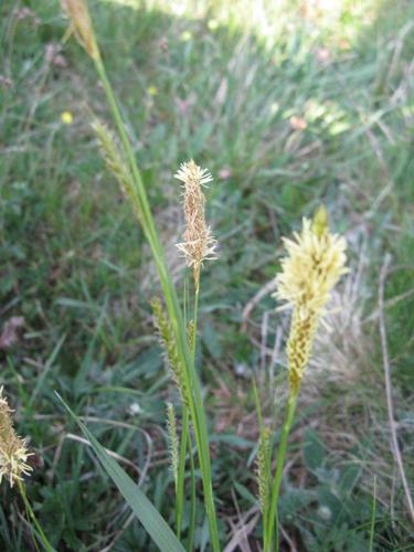
{"label": "brown and cream flower spike cut off by left edge", "polygon": [[28,453],[25,442],[18,437],[13,428],[11,408],[3,396],[3,388],[0,388],[0,484],[3,479],[9,480],[10,487],[23,480],[32,468],[26,464]]}

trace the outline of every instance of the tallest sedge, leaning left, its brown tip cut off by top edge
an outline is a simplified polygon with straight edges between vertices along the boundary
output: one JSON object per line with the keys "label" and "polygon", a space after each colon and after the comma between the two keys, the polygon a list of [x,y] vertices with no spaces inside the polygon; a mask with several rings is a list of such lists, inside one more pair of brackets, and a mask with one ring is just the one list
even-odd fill
{"label": "tallest sedge, leaning left, its brown tip cut off by top edge", "polygon": [[[107,161],[108,168],[114,172],[121,190],[131,203],[134,213],[137,216],[147,238],[157,266],[168,312],[168,319],[173,336],[173,342],[177,348],[177,358],[181,371],[183,392],[185,395],[185,407],[188,407],[189,418],[191,420],[194,433],[198,460],[203,485],[204,505],[209,520],[211,544],[214,552],[216,552],[220,550],[220,541],[213,499],[206,420],[201,394],[201,385],[194,365],[194,354],[189,343],[183,314],[178,300],[170,270],[166,263],[163,248],[148,203],[147,192],[134,155],[132,145],[128,137],[119,106],[108,79],[105,64],[96,42],[87,6],[84,0],[63,0],[63,7],[71,20],[70,30],[75,33],[77,40],[94,62],[118,134],[119,145],[105,125],[99,121],[95,121],[94,126],[100,141],[103,155]],[[200,268],[200,265],[198,265],[198,267]],[[194,311],[195,318],[197,307],[194,307]],[[194,325],[194,328],[195,326],[197,325]],[[187,425],[188,424],[183,424],[183,428],[185,428]],[[181,448],[185,450],[187,446]],[[183,452],[180,453],[180,455],[183,454]]]}

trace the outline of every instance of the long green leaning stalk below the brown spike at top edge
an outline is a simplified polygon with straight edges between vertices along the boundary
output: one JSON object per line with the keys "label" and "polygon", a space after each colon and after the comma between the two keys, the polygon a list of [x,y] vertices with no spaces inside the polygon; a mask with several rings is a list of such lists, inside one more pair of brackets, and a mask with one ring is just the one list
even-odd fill
{"label": "long green leaning stalk below the brown spike at top edge", "polygon": [[164,261],[163,251],[158,237],[158,233],[153,223],[153,217],[149,208],[147,193],[144,187],[142,178],[139,172],[134,151],[128,138],[128,135],[125,129],[125,125],[123,121],[121,114],[119,112],[119,107],[115,99],[115,95],[109,83],[109,79],[106,75],[105,66],[100,60],[94,59],[97,73],[102,79],[103,86],[105,88],[105,93],[108,99],[108,104],[110,110],[113,113],[113,117],[115,124],[117,126],[125,153],[130,166],[130,170],[137,185],[137,204],[139,205],[139,212],[141,214],[142,220],[141,225],[145,232],[145,235],[149,242],[162,291],[166,299],[167,310],[171,320],[172,330],[174,333],[177,348],[181,364],[184,369],[184,379],[185,386],[188,390],[188,399],[189,399],[189,410],[191,420],[194,427],[194,436],[195,436],[195,445],[199,454],[200,469],[203,482],[204,490],[204,502],[206,514],[209,519],[210,527],[210,535],[211,535],[211,544],[214,552],[220,551],[220,541],[219,541],[219,529],[215,516],[215,507],[213,499],[213,488],[211,481],[211,460],[210,460],[210,450],[209,450],[209,436],[206,431],[206,421],[205,421],[205,412],[203,407],[203,400],[201,394],[200,381],[195,372],[194,363],[190,357],[190,351],[187,342],[187,332],[185,326],[183,323],[181,308],[179,306],[179,301],[177,298],[176,289],[172,284],[171,275],[167,268],[167,264]]}

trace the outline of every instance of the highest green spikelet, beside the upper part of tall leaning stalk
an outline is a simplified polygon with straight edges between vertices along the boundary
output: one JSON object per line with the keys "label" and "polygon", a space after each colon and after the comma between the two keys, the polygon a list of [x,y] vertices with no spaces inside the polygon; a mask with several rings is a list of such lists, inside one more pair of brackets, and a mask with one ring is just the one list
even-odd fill
{"label": "highest green spikelet, beside the upper part of tall leaning stalk", "polygon": [[124,156],[118,147],[117,140],[104,123],[95,119],[92,124],[96,137],[99,141],[102,157],[104,158],[107,168],[117,179],[120,190],[125,198],[132,205],[134,213],[138,221],[141,222],[141,210],[137,197],[137,190],[134,184],[134,179],[126,163]]}

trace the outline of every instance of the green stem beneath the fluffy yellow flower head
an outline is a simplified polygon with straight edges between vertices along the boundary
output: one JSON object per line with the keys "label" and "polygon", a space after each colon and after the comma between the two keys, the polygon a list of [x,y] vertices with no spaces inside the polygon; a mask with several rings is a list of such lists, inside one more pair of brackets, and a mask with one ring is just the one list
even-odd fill
{"label": "green stem beneath the fluffy yellow flower head", "polygon": [[275,548],[273,548],[273,537],[274,537],[273,533],[274,533],[275,520],[277,521],[277,502],[279,498],[282,475],[283,475],[285,455],[287,449],[287,438],[289,436],[289,432],[295,417],[297,397],[298,397],[298,392],[296,393],[294,392],[290,393],[289,399],[287,401],[286,417],[284,426],[282,428],[282,438],[277,454],[276,474],[272,486],[270,510],[268,514],[266,533],[264,534],[264,552],[273,552],[273,550],[276,551],[279,550],[277,527],[276,527],[277,534],[276,534]]}

